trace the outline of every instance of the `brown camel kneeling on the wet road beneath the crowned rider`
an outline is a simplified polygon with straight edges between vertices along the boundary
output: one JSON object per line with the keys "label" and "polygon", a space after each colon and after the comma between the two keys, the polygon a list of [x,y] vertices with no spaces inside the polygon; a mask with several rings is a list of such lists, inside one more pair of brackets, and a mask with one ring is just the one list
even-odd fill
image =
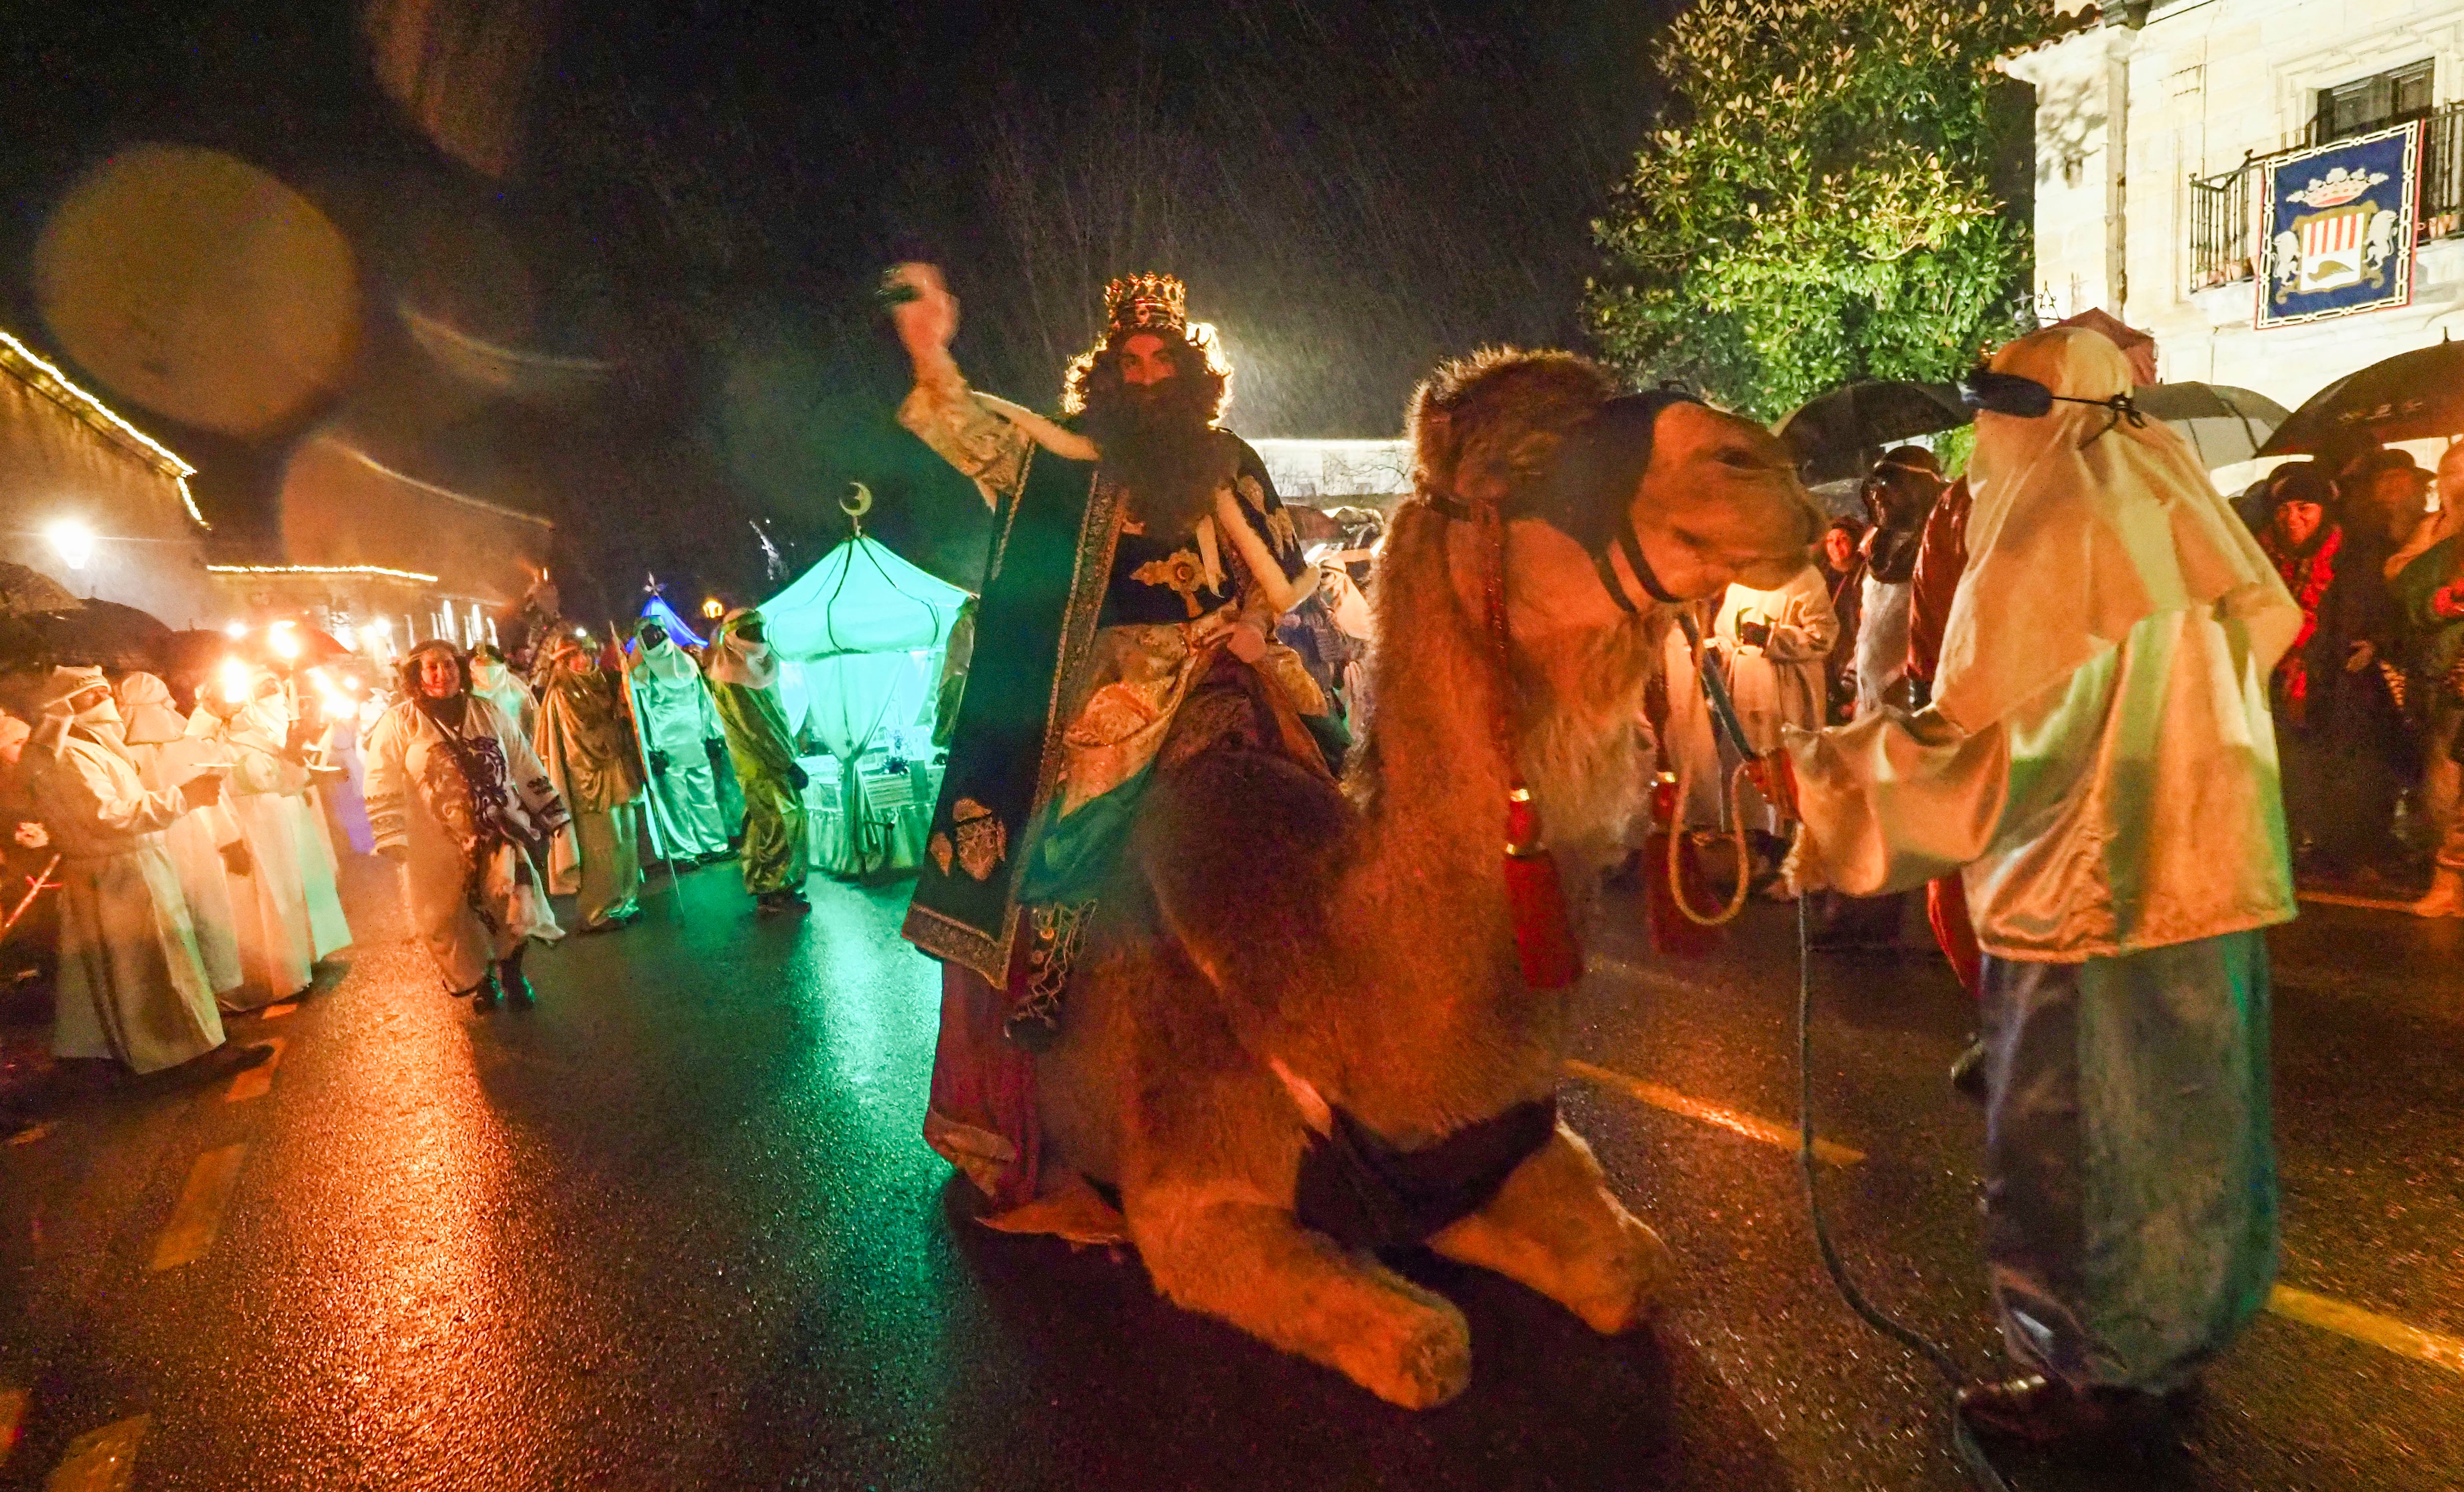
{"label": "brown camel kneeling on the wet road beneath the crowned rider", "polygon": [[[1693,599],[1730,580],[1779,584],[1818,533],[1779,441],[1668,404],[1646,424],[1641,481],[1629,464],[1626,491],[1599,498],[1626,508],[1656,577],[1624,557],[1594,567],[1538,518],[1506,523],[1508,686],[1486,624],[1491,530],[1432,496],[1513,510],[1611,392],[1592,363],[1508,350],[1422,385],[1417,496],[1397,508],[1372,584],[1377,718],[1348,779],[1242,745],[1188,760],[1165,747],[1087,930],[1060,1041],[1037,1058],[1047,1176],[1119,1186],[1168,1300],[1407,1408],[1466,1386],[1464,1314],[1303,1226],[1299,1176],[1335,1129],[1424,1152],[1552,1102],[1567,991],[1528,989],[1515,959],[1498,691],[1510,688],[1513,747],[1565,885],[1597,885],[1646,789],[1634,720],[1671,607],[1641,587]],[[1673,1260],[1582,1137],[1552,1110],[1540,1125],[1538,1149],[1508,1157],[1493,1196],[1427,1245],[1602,1334],[1629,1332]]]}

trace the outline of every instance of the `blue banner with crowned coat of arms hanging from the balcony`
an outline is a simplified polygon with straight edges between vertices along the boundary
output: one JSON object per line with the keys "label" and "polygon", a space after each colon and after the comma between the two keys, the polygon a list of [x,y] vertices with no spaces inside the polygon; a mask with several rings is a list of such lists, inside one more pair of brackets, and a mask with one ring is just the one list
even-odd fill
{"label": "blue banner with crowned coat of arms hanging from the balcony", "polygon": [[2259,330],[2410,306],[2420,180],[2420,121],[2269,160]]}

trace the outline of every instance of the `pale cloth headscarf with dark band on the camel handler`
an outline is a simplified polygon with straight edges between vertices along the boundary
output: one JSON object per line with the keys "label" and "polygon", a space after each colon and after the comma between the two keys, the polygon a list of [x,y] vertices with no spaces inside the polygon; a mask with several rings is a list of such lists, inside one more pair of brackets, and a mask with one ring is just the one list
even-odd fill
{"label": "pale cloth headscarf with dark band on the camel handler", "polygon": [[[1993,372],[2075,400],[2131,387],[2122,350],[2080,328],[2011,343]],[[1934,678],[1934,708],[1969,735],[2163,612],[2242,619],[2262,673],[2301,626],[2250,528],[2163,422],[2060,402],[2038,419],[1979,414],[1969,488],[1971,560]]]}

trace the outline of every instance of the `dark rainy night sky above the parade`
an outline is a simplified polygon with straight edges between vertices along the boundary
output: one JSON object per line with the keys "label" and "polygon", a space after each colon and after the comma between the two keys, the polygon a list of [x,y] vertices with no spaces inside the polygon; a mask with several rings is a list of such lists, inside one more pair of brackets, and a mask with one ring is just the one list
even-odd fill
{"label": "dark rainy night sky above the parade", "polygon": [[[0,311],[49,345],[27,264],[79,170],[138,141],[212,146],[333,217],[370,301],[350,380],[281,429],[128,409],[205,469],[224,543],[271,543],[283,461],[328,429],[557,518],[577,612],[623,607],[646,567],[756,597],[747,518],[811,562],[848,478],[880,493],[872,533],[968,582],[981,503],[890,424],[882,264],[951,269],[978,387],[1050,404],[1101,281],[1165,269],[1225,333],[1234,429],[1397,434],[1437,358],[1579,340],[1587,222],[1651,121],[1643,52],[1676,2],[626,0],[547,25],[525,25],[545,0],[20,7]],[[535,42],[535,69],[429,113],[451,133],[480,99],[515,121],[508,170],[387,99],[362,12],[490,59]],[[606,358],[614,385],[441,397],[404,306]]]}

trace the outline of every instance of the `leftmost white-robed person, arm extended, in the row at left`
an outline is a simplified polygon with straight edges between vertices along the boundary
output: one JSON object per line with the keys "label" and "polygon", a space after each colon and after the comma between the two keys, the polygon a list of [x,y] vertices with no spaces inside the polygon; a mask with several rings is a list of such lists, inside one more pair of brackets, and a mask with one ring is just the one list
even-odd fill
{"label": "leftmost white-robed person, arm extended, in the row at left", "polygon": [[52,668],[20,772],[59,851],[52,1051],[158,1073],[222,1046],[222,1014],[163,831],[209,806],[207,772],[148,792],[101,668]]}

